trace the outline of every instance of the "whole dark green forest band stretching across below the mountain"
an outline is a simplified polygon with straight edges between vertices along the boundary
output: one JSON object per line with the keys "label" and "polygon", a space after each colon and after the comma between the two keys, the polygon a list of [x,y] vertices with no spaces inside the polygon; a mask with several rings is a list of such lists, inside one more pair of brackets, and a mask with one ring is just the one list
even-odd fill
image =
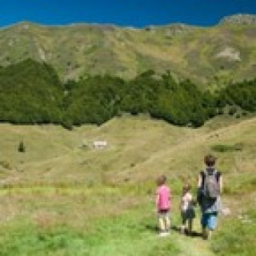
{"label": "whole dark green forest band stretching across below the mountain", "polygon": [[237,117],[255,112],[256,79],[210,92],[188,79],[176,81],[170,71],[148,70],[130,81],[105,74],[63,83],[52,66],[31,59],[0,68],[1,122],[55,123],[72,129],[101,125],[123,113],[145,113],[198,127],[226,109]]}

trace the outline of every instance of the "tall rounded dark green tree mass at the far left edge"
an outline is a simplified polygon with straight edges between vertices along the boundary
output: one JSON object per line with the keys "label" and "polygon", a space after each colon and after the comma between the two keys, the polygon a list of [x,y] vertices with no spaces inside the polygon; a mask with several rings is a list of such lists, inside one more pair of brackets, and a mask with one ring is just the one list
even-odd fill
{"label": "tall rounded dark green tree mass at the far left edge", "polygon": [[19,124],[62,121],[62,84],[55,70],[30,59],[0,69],[0,120]]}

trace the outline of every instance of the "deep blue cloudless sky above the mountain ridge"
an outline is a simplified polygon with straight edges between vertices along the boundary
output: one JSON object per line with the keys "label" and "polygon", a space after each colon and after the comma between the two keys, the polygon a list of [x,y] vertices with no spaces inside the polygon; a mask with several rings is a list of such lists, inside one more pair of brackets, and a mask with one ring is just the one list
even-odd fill
{"label": "deep blue cloudless sky above the mountain ridge", "polygon": [[1,0],[0,26],[21,21],[210,26],[223,16],[238,13],[256,14],[256,0]]}

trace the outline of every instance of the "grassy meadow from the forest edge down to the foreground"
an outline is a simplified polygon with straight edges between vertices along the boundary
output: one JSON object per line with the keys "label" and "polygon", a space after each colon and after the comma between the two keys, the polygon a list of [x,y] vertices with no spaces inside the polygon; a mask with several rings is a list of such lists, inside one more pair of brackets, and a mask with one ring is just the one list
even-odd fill
{"label": "grassy meadow from the forest edge down to the foreground", "polygon": [[[92,142],[106,140],[96,150]],[[19,142],[25,152],[18,152]],[[102,126],[0,125],[0,255],[241,255],[256,244],[256,118],[214,118],[198,129],[145,115]],[[212,240],[178,234],[182,183],[218,158],[223,205]],[[167,238],[156,235],[155,179],[173,192]]]}

